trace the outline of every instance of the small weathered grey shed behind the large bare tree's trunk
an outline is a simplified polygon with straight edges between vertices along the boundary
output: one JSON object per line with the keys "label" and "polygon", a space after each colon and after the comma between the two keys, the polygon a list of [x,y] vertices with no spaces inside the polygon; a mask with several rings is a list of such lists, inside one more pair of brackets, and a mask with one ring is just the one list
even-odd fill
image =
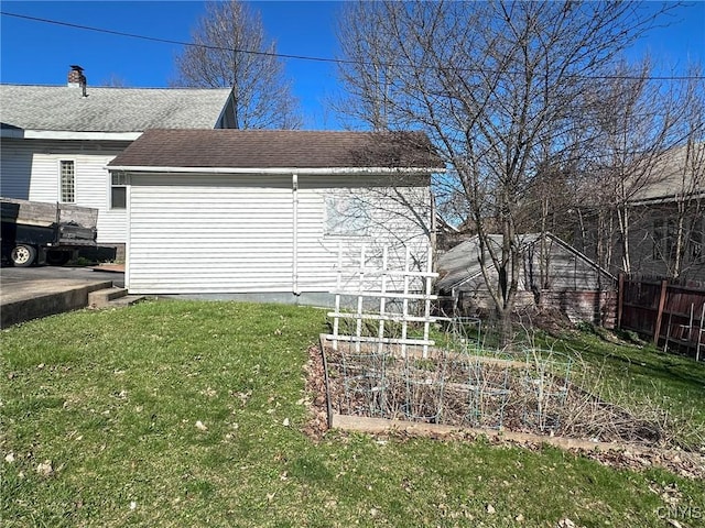
{"label": "small weathered grey shed behind the large bare tree's trunk", "polygon": [[[502,235],[489,235],[495,251],[501,251]],[[616,280],[605,270],[566,244],[545,233],[528,233],[519,237],[521,271],[516,308],[553,307],[572,320],[589,320],[611,326]],[[486,251],[487,275],[492,287],[498,282]],[[474,314],[491,310],[492,299],[480,266],[480,244],[477,235],[454,246],[438,258],[440,277],[436,290],[451,298],[444,305],[446,311]],[[453,314],[446,314],[453,315]],[[457,315],[457,314],[455,314]]]}

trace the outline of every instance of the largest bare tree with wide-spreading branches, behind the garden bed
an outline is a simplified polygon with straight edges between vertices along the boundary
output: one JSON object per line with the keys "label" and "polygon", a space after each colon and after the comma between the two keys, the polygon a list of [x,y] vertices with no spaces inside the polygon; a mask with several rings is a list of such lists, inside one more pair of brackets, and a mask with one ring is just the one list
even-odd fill
{"label": "largest bare tree with wide-spreading branches, behind the garden bed", "polygon": [[[572,146],[582,95],[670,6],[382,1],[366,4],[379,11],[373,38],[355,31],[361,10],[348,11],[347,38],[366,45],[344,45],[357,54],[347,58],[360,72],[346,85],[364,106],[383,100],[388,128],[427,131],[453,166],[454,179],[442,185],[464,198],[475,223],[506,342],[521,271],[518,218],[543,150]],[[371,15],[365,16],[360,28]],[[386,64],[388,57],[394,63]],[[502,235],[500,248],[489,243],[490,224]]]}

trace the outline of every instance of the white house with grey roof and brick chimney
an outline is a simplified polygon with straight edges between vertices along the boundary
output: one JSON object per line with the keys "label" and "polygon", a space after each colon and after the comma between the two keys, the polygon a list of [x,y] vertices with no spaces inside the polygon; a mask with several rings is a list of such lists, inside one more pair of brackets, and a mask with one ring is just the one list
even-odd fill
{"label": "white house with grey roof and brick chimney", "polygon": [[99,210],[98,243],[127,237],[126,185],[106,165],[153,128],[231,128],[229,89],[0,85],[0,195]]}

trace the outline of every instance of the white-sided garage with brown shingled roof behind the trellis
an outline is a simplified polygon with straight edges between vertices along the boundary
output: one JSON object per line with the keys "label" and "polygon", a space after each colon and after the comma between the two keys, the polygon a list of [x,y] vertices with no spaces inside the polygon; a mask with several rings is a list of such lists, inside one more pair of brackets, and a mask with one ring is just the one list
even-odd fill
{"label": "white-sided garage with brown shingled roof behind the trellis", "polygon": [[147,131],[108,165],[127,184],[126,286],[325,302],[362,246],[423,270],[440,166],[421,133]]}

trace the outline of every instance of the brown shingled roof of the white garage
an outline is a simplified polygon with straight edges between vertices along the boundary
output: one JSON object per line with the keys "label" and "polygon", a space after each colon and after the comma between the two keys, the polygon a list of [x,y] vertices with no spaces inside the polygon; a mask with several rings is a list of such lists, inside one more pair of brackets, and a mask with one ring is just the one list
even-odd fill
{"label": "brown shingled roof of the white garage", "polygon": [[109,167],[438,168],[420,132],[149,130]]}

